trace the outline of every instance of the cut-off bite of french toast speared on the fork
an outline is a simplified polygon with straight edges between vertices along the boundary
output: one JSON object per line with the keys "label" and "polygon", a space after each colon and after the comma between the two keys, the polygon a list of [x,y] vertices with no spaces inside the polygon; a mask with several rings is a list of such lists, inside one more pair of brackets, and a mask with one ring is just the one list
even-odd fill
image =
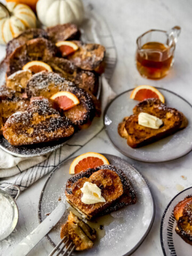
{"label": "cut-off bite of french toast speared on the fork", "polygon": [[73,242],[76,251],[83,251],[93,246],[96,231],[70,211],[67,222],[61,226],[60,236],[61,239],[66,236]]}

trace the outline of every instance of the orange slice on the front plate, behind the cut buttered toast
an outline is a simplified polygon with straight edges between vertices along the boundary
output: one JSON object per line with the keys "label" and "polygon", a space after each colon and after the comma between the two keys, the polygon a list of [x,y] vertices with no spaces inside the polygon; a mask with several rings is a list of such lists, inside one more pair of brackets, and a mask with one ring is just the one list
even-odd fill
{"label": "orange slice on the front plate, behind the cut buttered toast", "polygon": [[69,173],[79,173],[89,168],[98,167],[102,164],[109,164],[107,158],[99,153],[88,152],[77,156],[71,163]]}

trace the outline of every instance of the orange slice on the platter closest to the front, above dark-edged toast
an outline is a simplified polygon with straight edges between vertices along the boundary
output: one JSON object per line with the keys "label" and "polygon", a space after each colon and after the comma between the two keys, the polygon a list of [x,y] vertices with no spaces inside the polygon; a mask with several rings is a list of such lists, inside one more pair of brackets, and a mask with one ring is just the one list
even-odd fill
{"label": "orange slice on the platter closest to the front, above dark-edged toast", "polygon": [[57,102],[63,110],[73,108],[80,103],[76,95],[71,92],[57,92],[51,96],[51,100]]}

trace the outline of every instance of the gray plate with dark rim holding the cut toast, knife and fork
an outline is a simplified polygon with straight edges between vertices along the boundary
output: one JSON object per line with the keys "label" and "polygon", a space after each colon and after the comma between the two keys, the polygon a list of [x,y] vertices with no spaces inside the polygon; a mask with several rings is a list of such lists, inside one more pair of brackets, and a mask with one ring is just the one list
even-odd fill
{"label": "gray plate with dark rim holding the cut toast, knife and fork", "polygon": [[[110,164],[122,169],[129,178],[137,194],[137,203],[89,222],[90,226],[98,232],[97,241],[91,250],[74,253],[75,255],[130,255],[145,239],[153,224],[155,206],[145,179],[122,158],[103,155],[107,157]],[[73,159],[61,163],[47,179],[39,200],[39,222],[46,218],[46,214],[53,211],[59,203],[59,198],[69,207],[65,199],[65,185],[71,177],[69,166]],[[68,210],[70,210],[70,207]],[[75,213],[77,214],[77,212]],[[68,211],[46,236],[53,246],[60,241],[60,227],[66,221],[67,215]],[[100,225],[104,226],[103,230],[99,229]]]}

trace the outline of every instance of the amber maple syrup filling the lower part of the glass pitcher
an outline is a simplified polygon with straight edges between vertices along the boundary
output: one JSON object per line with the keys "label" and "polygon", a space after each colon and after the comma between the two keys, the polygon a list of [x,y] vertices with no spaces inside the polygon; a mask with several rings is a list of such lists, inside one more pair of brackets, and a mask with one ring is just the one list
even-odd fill
{"label": "amber maple syrup filling the lower part of the glass pitcher", "polygon": [[137,69],[141,76],[160,79],[167,75],[173,62],[170,47],[159,42],[148,42],[136,53]]}

